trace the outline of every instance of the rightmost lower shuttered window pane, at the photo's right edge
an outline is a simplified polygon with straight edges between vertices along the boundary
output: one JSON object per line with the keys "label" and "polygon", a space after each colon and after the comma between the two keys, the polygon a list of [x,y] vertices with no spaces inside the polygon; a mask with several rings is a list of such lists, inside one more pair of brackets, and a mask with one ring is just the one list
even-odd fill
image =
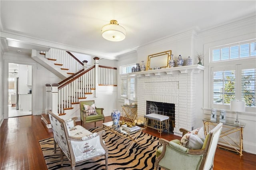
{"label": "rightmost lower shuttered window pane, at the photo's right edge", "polygon": [[256,101],[256,69],[242,69],[241,71],[241,91],[242,100],[245,105],[255,107]]}

